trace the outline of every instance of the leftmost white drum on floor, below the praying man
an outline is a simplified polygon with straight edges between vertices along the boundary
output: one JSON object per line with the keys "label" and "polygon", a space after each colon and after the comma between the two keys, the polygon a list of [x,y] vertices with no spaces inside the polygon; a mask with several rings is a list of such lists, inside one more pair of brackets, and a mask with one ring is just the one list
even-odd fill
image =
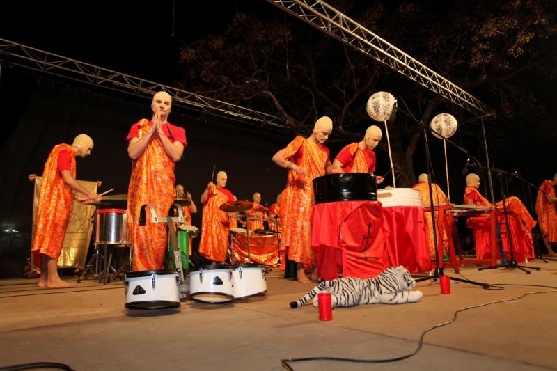
{"label": "leftmost white drum on floor, below the praying man", "polygon": [[126,308],[164,309],[180,306],[180,275],[175,269],[128,272],[125,276]]}

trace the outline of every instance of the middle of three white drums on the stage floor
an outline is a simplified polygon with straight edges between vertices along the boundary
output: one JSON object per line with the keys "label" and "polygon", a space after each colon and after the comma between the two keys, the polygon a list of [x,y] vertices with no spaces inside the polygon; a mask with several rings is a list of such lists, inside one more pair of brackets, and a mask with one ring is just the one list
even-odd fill
{"label": "middle of three white drums on the stage floor", "polygon": [[189,271],[189,298],[199,303],[224,304],[234,300],[230,265],[203,265]]}

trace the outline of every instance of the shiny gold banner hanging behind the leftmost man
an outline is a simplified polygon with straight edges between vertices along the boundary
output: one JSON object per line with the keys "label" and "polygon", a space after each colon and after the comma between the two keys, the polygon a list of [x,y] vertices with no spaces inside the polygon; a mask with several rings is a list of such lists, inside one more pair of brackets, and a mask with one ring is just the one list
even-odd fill
{"label": "shiny gold banner hanging behind the leftmost man", "polygon": [[[31,235],[31,241],[33,240],[33,235],[35,235],[35,218],[37,214],[41,181],[42,177],[38,176],[35,178],[35,192],[33,196],[33,232]],[[90,191],[93,194],[97,193],[97,182],[86,182],[84,180],[78,180],[77,182],[79,182],[81,187],[84,187],[87,191]],[[81,205],[81,203],[74,201],[68,228],[65,230],[62,252],[60,254],[60,258],[58,258],[58,267],[85,267],[89,242],[91,241],[91,233],[93,232],[91,216],[93,216],[94,212],[95,206]],[[32,259],[33,255],[31,255],[31,260]],[[31,266],[35,266],[33,262],[31,262]]]}

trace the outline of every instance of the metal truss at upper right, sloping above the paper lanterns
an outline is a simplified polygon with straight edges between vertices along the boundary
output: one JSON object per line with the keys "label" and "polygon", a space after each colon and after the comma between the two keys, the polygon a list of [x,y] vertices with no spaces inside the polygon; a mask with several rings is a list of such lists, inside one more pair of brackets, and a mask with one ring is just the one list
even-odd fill
{"label": "metal truss at upper right, sloping above the paper lanterns", "polygon": [[457,104],[471,113],[480,113],[482,115],[493,113],[489,106],[480,102],[476,97],[466,93],[462,88],[434,72],[431,68],[427,68],[422,63],[416,61],[416,59],[323,1],[267,1],[299,17],[316,29],[327,33],[327,35],[387,65],[396,72],[404,74],[421,86],[432,90],[434,93],[441,95],[446,100]]}

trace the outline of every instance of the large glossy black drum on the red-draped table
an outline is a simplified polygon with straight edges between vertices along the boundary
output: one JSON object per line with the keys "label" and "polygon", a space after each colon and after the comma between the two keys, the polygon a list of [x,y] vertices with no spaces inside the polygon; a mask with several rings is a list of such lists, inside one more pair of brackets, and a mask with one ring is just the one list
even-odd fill
{"label": "large glossy black drum on the red-draped table", "polygon": [[324,175],[313,180],[315,203],[376,201],[377,182],[370,173]]}

